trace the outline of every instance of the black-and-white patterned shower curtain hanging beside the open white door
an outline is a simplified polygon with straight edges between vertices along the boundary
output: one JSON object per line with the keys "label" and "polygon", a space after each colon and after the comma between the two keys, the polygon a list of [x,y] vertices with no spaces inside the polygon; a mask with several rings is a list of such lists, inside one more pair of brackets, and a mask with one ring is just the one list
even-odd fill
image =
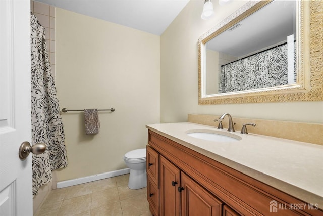
{"label": "black-and-white patterned shower curtain hanging beside the open white door", "polygon": [[51,181],[51,171],[68,165],[64,128],[56,97],[45,40],[45,29],[31,14],[31,124],[32,145],[44,143],[44,153],[32,154],[33,195]]}

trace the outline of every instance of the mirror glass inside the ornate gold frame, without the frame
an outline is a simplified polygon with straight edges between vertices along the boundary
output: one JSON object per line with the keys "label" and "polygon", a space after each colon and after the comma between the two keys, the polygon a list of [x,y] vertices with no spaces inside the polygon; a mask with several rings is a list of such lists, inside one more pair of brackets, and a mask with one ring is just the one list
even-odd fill
{"label": "mirror glass inside the ornate gold frame, without the frame", "polygon": [[265,5],[205,43],[206,95],[296,83],[294,43],[296,2]]}

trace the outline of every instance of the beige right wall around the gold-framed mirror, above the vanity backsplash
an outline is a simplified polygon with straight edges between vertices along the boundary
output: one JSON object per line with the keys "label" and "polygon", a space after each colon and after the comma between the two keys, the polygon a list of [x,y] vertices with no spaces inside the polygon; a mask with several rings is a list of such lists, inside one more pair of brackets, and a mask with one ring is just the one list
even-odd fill
{"label": "beige right wall around the gold-framed mirror, above the vanity backsplash", "polygon": [[[213,2],[215,17],[200,18],[203,2],[191,0],[160,37],[160,121],[187,121],[188,113],[323,123],[323,102],[198,105],[197,39],[246,1]],[[286,128],[282,128],[286,129]]]}

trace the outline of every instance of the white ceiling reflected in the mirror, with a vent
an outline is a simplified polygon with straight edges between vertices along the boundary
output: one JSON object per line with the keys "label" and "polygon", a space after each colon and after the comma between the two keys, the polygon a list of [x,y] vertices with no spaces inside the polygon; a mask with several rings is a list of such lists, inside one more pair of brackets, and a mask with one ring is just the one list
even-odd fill
{"label": "white ceiling reflected in the mirror, with a vent", "polygon": [[296,2],[274,1],[248,16],[240,26],[217,35],[206,48],[238,58],[296,36]]}

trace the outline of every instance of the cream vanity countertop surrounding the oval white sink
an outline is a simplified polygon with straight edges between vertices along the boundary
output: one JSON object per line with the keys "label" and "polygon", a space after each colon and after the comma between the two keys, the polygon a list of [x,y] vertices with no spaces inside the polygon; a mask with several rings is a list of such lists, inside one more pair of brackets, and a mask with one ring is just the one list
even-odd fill
{"label": "cream vanity countertop surrounding the oval white sink", "polygon": [[[323,146],[256,134],[227,132],[212,126],[182,122],[149,124],[148,129],[234,168],[254,179],[323,209]],[[207,129],[242,139],[214,142],[185,132]],[[301,133],[301,132],[300,132]]]}

